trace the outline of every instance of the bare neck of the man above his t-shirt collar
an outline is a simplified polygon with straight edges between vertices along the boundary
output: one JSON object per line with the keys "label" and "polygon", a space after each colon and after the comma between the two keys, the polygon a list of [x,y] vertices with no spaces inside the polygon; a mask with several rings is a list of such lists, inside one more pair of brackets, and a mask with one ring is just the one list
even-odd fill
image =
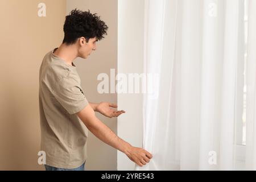
{"label": "bare neck of the man above his t-shirt collar", "polygon": [[66,44],[61,44],[54,52],[54,55],[60,59],[66,61],[67,64],[72,65],[73,61],[77,58],[76,44],[67,46]]}

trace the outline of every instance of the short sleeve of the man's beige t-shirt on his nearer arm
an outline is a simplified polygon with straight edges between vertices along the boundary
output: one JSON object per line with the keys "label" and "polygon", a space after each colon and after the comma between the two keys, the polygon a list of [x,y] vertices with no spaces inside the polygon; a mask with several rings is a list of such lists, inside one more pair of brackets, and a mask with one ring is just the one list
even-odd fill
{"label": "short sleeve of the man's beige t-shirt on his nearer arm", "polygon": [[88,105],[79,82],[72,77],[64,77],[56,83],[53,95],[69,114],[78,113]]}

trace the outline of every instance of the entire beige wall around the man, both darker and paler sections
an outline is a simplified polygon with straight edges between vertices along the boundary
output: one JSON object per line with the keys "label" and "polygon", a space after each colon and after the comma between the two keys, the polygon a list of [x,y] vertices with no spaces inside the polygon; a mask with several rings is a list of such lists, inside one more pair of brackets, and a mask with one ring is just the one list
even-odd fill
{"label": "entire beige wall around the man, both darker and paler sections", "polygon": [[[46,17],[38,16],[38,4],[46,3]],[[98,42],[89,59],[75,64],[86,97],[91,102],[117,102],[117,94],[98,94],[97,76],[117,69],[117,0],[1,0],[0,1],[0,170],[44,170],[39,166],[40,122],[39,67],[43,56],[63,40],[65,15],[73,8],[101,15],[108,36]],[[97,114],[117,132],[117,119]],[[89,133],[86,169],[117,169],[117,151]]]}

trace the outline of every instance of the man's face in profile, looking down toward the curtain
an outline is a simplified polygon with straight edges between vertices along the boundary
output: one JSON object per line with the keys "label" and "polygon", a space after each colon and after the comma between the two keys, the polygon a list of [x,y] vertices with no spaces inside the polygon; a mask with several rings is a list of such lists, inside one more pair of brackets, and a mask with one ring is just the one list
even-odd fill
{"label": "man's face in profile, looking down toward the curtain", "polygon": [[90,55],[90,53],[92,53],[92,51],[96,50],[97,41],[97,38],[91,38],[88,42],[86,42],[86,39],[80,38],[79,57],[86,59]]}

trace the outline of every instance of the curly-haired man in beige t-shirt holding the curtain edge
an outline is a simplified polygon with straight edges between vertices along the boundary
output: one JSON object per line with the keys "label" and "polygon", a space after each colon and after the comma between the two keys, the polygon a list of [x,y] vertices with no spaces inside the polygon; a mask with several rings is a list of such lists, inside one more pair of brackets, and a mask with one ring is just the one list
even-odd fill
{"label": "curly-haired man in beige t-shirt holding the curtain edge", "polygon": [[117,105],[108,102],[88,102],[81,88],[73,61],[77,57],[86,59],[95,51],[96,42],[104,38],[107,30],[108,26],[97,14],[72,10],[66,16],[63,43],[44,56],[39,73],[39,107],[41,150],[46,152],[47,171],[84,170],[86,127],[139,166],[152,158],[143,148],[133,147],[117,137],[94,113],[112,118],[125,111],[110,108]]}

